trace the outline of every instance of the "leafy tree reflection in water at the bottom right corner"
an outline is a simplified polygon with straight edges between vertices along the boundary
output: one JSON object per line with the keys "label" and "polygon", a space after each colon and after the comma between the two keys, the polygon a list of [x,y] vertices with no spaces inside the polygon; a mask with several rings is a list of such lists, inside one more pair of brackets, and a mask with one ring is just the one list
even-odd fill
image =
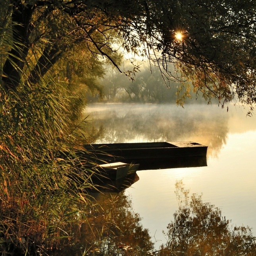
{"label": "leafy tree reflection in water at the bottom right corner", "polygon": [[221,210],[202,202],[202,196],[176,183],[179,209],[167,226],[167,243],[156,252],[158,256],[256,255],[256,238],[249,227],[230,227]]}

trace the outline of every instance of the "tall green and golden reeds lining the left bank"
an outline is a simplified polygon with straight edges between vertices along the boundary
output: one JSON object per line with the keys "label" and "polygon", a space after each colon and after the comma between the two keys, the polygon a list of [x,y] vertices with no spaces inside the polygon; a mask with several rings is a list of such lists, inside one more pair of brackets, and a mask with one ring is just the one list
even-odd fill
{"label": "tall green and golden reeds lining the left bank", "polygon": [[[12,46],[10,46],[12,47]],[[8,57],[6,57],[8,58]],[[0,252],[37,255],[69,237],[67,223],[89,204],[91,169],[73,153],[79,127],[71,121],[65,87],[54,79],[16,91],[0,84]],[[61,158],[69,150],[72,157]],[[86,208],[83,208],[86,209]],[[83,210],[84,212],[85,210]]]}

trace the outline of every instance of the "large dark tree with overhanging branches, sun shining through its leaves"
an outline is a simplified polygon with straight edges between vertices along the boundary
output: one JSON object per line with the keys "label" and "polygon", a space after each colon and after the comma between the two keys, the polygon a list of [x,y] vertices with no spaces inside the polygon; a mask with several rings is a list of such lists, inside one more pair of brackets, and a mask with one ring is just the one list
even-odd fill
{"label": "large dark tree with overhanging branches, sun shining through its leaves", "polygon": [[[117,47],[110,39],[119,32],[123,48],[147,56],[162,68],[167,82],[184,79],[172,73],[172,66],[169,69],[175,64],[207,100],[214,97],[225,103],[238,97],[255,104],[253,1],[17,0],[10,5],[16,43],[3,68],[5,89],[17,88],[31,51],[37,58],[27,81],[36,83],[70,45],[81,40],[92,54],[106,56],[116,65],[110,52]],[[8,12],[10,8],[6,17]]]}

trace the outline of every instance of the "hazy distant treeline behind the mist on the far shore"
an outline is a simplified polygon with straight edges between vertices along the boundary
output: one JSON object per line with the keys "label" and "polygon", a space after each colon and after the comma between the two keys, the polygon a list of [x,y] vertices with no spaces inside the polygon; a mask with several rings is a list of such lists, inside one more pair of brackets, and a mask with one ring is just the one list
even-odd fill
{"label": "hazy distant treeline behind the mist on the far shore", "polygon": [[188,81],[173,81],[166,85],[155,66],[142,65],[132,75],[109,67],[100,83],[103,96],[89,92],[88,102],[206,103],[201,92],[192,92],[192,83]]}

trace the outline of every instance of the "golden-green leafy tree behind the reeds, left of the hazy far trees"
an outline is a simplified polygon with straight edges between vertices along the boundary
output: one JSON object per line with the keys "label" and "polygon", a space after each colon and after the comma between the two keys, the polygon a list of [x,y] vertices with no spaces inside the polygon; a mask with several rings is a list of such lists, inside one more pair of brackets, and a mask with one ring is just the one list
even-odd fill
{"label": "golden-green leafy tree behind the reeds, left of the hazy far trees", "polygon": [[[88,102],[88,95],[103,96],[100,78],[105,73],[102,60],[90,54],[85,42],[80,42],[63,54],[58,65],[48,72],[62,81],[63,95],[67,98],[67,114],[71,122],[81,120],[81,113]],[[55,75],[54,75],[55,74]]]}

